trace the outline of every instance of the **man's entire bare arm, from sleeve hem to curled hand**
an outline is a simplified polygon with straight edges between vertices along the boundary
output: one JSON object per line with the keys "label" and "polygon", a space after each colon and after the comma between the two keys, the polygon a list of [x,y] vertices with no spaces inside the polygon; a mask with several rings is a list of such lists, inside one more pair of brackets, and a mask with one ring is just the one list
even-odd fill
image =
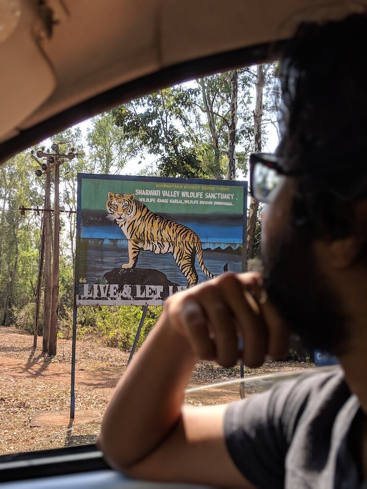
{"label": "man's entire bare arm, from sleeve hem to curled hand", "polygon": [[283,356],[287,342],[257,273],[225,273],[173,295],[107,407],[98,437],[106,459],[138,478],[252,487],[227,451],[225,406],[185,406],[184,390],[199,358],[255,367]]}

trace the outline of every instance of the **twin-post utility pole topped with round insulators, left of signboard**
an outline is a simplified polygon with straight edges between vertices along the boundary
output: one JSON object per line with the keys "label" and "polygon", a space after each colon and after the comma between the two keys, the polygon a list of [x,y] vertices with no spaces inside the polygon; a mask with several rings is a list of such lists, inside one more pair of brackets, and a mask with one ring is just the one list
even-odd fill
{"label": "twin-post utility pole topped with round insulators, left of signboard", "polygon": [[[45,230],[45,307],[44,307],[44,337],[43,352],[48,356],[56,355],[57,346],[57,312],[59,303],[59,243],[60,243],[60,200],[59,200],[59,166],[65,159],[73,159],[75,154],[73,148],[68,154],[59,152],[59,145],[53,143],[50,153],[44,150],[37,151],[38,158],[45,158],[46,163],[33,156],[41,165],[42,170],[37,170],[36,175],[41,177],[46,174],[46,196],[45,209],[50,210],[50,172],[55,170],[54,185],[54,236],[53,236],[53,253],[52,253],[52,274],[51,274],[51,213],[46,212],[46,230]],[[46,251],[47,250],[47,251]]]}

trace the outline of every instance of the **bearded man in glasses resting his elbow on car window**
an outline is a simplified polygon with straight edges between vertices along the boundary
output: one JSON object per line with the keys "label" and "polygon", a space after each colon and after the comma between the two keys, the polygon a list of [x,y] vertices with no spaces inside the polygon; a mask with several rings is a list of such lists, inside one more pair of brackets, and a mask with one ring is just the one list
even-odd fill
{"label": "bearded man in glasses resting his elbow on car window", "polygon": [[[223,488],[367,488],[367,17],[302,25],[280,64],[281,142],[252,155],[260,273],[167,300],[98,438],[140,479]],[[342,368],[225,406],[185,406],[199,359],[249,367],[291,332]],[[243,348],[239,349],[242,339]]]}

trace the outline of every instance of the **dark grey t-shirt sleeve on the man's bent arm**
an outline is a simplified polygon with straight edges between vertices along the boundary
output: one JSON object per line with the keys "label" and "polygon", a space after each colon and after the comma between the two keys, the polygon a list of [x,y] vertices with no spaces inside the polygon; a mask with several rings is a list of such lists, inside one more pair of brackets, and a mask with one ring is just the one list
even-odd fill
{"label": "dark grey t-shirt sleeve on the man's bent arm", "polygon": [[224,430],[229,454],[258,488],[283,488],[285,458],[309,390],[297,380],[275,384],[228,405]]}

